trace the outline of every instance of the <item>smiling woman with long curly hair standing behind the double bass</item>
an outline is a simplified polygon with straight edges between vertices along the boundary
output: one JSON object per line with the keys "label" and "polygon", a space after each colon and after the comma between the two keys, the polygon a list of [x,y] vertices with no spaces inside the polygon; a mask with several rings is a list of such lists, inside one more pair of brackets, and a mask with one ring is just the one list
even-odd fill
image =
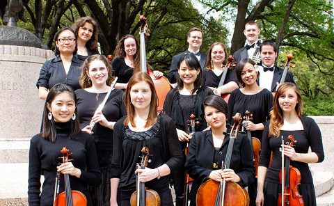
{"label": "smiling woman with long curly hair standing behind the double bass", "polygon": [[[113,54],[115,58],[111,63],[113,76],[118,77],[115,88],[127,88],[127,82],[136,72],[141,71],[141,53],[139,43],[132,34],[123,35]],[[162,77],[160,71],[153,71],[154,77]]]}

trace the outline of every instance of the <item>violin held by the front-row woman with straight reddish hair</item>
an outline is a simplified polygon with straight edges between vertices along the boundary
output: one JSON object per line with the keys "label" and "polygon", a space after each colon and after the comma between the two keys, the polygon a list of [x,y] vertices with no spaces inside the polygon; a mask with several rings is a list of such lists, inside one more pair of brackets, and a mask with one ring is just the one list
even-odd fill
{"label": "violin held by the front-row woman with straight reddish hair", "polygon": [[[138,168],[145,169],[145,166],[148,165],[148,157],[150,157],[150,151],[148,147],[143,147],[141,149],[142,156],[141,156],[141,165],[137,165]],[[159,194],[152,190],[145,188],[145,183],[140,182],[138,180],[137,174],[137,189],[132,193],[130,198],[130,205],[131,206],[160,206],[160,197]]]}

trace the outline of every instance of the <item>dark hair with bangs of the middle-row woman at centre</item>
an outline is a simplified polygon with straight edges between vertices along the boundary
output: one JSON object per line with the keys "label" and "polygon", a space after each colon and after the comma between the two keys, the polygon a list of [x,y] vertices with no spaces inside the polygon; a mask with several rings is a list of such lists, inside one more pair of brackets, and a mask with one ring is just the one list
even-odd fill
{"label": "dark hair with bangs of the middle-row woman at centre", "polygon": [[[195,82],[193,82],[193,90],[191,90],[191,95],[193,95],[202,85],[202,69],[200,68],[200,62],[194,54],[184,54],[184,56],[182,56],[180,58],[180,61],[177,63],[177,70],[180,70],[180,65],[182,61],[184,61],[186,65],[189,66],[189,68],[193,68],[199,71]],[[180,78],[180,75],[177,75],[177,89],[180,90],[183,88],[183,86],[184,83]]]}

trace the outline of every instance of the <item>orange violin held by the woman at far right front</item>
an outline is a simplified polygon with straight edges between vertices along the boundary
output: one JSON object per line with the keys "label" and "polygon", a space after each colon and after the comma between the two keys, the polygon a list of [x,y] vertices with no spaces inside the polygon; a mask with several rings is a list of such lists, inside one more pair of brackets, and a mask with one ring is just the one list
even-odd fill
{"label": "orange violin held by the woman at far right front", "polygon": [[[287,145],[293,147],[296,140],[293,135],[287,137]],[[284,145],[284,140],[282,139]],[[282,169],[280,170],[280,184],[282,191],[278,194],[278,206],[303,206],[303,197],[298,191],[301,184],[301,172],[290,165],[289,157],[285,156],[282,148]]]}

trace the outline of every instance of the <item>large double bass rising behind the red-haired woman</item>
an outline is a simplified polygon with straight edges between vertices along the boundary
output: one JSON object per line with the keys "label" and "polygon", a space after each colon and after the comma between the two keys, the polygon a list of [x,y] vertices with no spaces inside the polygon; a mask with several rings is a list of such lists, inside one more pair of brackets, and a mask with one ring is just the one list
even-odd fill
{"label": "large double bass rising behind the red-haired woman", "polygon": [[164,102],[166,95],[169,90],[172,89],[168,79],[166,77],[160,77],[159,79],[154,78],[153,72],[148,68],[146,63],[146,49],[145,49],[145,34],[148,34],[148,24],[146,23],[146,18],[141,15],[139,21],[141,22],[141,72],[147,72],[153,80],[155,89],[159,91],[158,95],[158,110],[161,111],[164,107]]}

